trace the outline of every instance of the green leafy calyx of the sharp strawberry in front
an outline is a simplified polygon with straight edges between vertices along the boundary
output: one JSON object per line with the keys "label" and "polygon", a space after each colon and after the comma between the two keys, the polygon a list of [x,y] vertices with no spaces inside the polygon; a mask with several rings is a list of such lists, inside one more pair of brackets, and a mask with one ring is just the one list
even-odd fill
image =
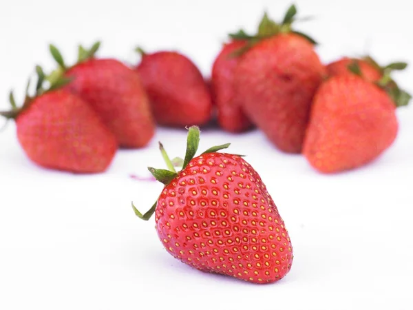
{"label": "green leafy calyx of the sharp strawberry in front", "polygon": [[[169,183],[171,183],[171,181],[174,178],[178,177],[180,174],[180,172],[176,171],[175,167],[181,167],[180,171],[182,171],[189,165],[189,162],[195,157],[195,154],[198,151],[199,143],[200,143],[199,127],[198,126],[189,127],[188,136],[187,136],[187,152],[185,152],[185,157],[184,159],[176,157],[176,158],[173,158],[172,161],[169,159],[169,156],[167,155],[167,152],[165,151],[165,148],[163,147],[162,143],[159,143],[160,152],[162,154],[162,157],[164,158],[165,163],[167,164],[168,169],[156,169],[156,168],[148,167],[149,172],[151,172],[151,174],[160,183],[162,183],[165,186],[168,185]],[[228,148],[230,144],[231,143],[226,143],[223,145],[217,145],[214,147],[210,147],[202,154],[218,152],[221,149]],[[134,206],[134,203],[132,203],[132,208],[134,209],[135,214],[136,216],[138,216],[138,218],[141,218],[142,220],[149,220],[153,212],[155,212],[157,203],[158,203],[158,200],[156,201],[156,203],[153,204],[151,209],[149,209],[145,214],[140,213],[140,211],[138,211],[138,209],[136,209],[136,207]]]}

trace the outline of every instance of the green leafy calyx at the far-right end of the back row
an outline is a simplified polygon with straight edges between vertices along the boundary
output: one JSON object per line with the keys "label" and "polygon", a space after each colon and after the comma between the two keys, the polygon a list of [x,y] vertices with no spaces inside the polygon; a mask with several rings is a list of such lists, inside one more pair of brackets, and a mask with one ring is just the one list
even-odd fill
{"label": "green leafy calyx at the far-right end of the back row", "polygon": [[[361,61],[366,61],[381,73],[381,79],[375,82],[375,84],[388,93],[396,107],[402,107],[409,104],[410,99],[412,99],[412,95],[410,95],[405,90],[402,90],[394,81],[394,79],[392,79],[392,72],[405,70],[405,68],[407,68],[407,63],[397,61],[382,66],[379,65],[377,61],[372,59],[371,56],[364,56],[361,58]],[[350,70],[354,74],[357,74],[358,76],[362,76],[362,72],[357,59],[354,59],[352,63],[348,65],[348,70]]]}

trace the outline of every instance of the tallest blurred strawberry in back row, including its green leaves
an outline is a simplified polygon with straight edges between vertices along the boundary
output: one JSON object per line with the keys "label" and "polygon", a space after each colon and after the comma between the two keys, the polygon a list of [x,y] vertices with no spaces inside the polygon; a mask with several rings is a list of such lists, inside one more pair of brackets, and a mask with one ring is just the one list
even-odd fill
{"label": "tallest blurred strawberry in back row, including its green leaves", "polygon": [[301,152],[310,105],[325,74],[314,41],[292,30],[297,10],[282,23],[264,17],[255,36],[240,30],[233,39],[248,41],[235,69],[235,101],[246,116],[284,152]]}

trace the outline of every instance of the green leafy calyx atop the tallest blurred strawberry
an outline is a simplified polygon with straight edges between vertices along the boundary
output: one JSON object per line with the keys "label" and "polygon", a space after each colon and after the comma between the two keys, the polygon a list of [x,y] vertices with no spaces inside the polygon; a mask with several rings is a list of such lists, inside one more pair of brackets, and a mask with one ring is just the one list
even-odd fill
{"label": "green leafy calyx atop the tallest blurred strawberry", "polygon": [[[298,20],[296,15],[297,8],[295,7],[295,5],[292,5],[288,8],[286,14],[284,14],[284,18],[282,19],[281,23],[273,21],[268,17],[268,14],[264,12],[264,16],[262,17],[260,24],[258,25],[258,30],[256,34],[247,34],[242,29],[229,34],[229,37],[232,40],[246,41],[246,45],[243,48],[240,48],[240,50],[237,50],[233,54],[233,56],[240,56],[240,54],[243,54],[244,52],[249,50],[256,43],[282,33],[295,33],[301,37],[304,37],[305,39],[310,41],[310,43],[317,44],[317,42],[311,37],[308,37],[308,35],[297,30],[293,30],[293,23]],[[302,18],[300,20],[304,21],[308,19],[309,18]]]}

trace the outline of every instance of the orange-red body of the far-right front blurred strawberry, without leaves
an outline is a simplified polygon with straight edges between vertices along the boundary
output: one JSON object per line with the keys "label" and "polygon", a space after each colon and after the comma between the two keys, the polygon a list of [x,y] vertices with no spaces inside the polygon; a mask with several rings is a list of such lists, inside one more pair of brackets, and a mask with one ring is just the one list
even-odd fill
{"label": "orange-red body of the far-right front blurred strawberry, without leaves", "polygon": [[315,95],[304,156],[324,173],[373,161],[396,138],[395,108],[377,85],[352,74],[333,76]]}

